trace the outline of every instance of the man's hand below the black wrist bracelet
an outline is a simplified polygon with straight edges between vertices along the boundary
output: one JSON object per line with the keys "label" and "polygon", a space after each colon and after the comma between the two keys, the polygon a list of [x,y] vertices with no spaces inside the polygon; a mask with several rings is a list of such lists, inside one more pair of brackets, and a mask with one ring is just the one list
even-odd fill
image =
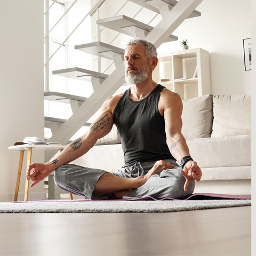
{"label": "man's hand below the black wrist bracelet", "polygon": [[189,182],[191,180],[199,181],[199,180],[201,180],[201,177],[202,177],[202,171],[195,161],[188,161],[184,165],[183,170],[180,171],[180,173],[186,179],[186,182],[184,185],[184,191],[187,191]]}

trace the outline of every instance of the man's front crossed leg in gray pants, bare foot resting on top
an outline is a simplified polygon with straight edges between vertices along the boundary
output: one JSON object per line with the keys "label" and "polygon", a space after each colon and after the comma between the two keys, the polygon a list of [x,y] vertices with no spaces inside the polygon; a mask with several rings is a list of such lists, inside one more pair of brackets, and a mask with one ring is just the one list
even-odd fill
{"label": "man's front crossed leg in gray pants, bare foot resting on top", "polygon": [[100,169],[91,169],[74,164],[66,164],[55,170],[55,184],[68,193],[92,198],[92,196],[105,196],[113,194],[122,198],[131,189],[143,186],[154,174],[174,166],[163,160],[157,161],[144,176],[137,178],[118,177]]}

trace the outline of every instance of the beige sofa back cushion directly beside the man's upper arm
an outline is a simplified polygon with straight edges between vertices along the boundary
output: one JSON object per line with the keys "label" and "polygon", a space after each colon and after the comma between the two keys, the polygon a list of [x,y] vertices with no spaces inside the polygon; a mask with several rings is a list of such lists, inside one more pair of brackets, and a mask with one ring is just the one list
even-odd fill
{"label": "beige sofa back cushion directly beside the man's upper arm", "polygon": [[212,132],[212,95],[182,100],[182,134],[188,139],[208,138]]}

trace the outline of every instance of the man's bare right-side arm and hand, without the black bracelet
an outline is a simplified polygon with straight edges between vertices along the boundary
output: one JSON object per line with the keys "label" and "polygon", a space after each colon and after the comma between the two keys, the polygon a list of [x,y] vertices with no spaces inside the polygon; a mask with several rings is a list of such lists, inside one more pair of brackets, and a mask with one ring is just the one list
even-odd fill
{"label": "man's bare right-side arm and hand, without the black bracelet", "polygon": [[[190,156],[186,139],[181,133],[182,101],[180,96],[169,90],[164,91],[159,100],[159,111],[162,111],[164,115],[167,146],[173,157],[180,163],[183,157]],[[195,161],[186,162],[181,174],[186,178],[185,191],[191,180],[199,181],[202,177],[201,169]]]}

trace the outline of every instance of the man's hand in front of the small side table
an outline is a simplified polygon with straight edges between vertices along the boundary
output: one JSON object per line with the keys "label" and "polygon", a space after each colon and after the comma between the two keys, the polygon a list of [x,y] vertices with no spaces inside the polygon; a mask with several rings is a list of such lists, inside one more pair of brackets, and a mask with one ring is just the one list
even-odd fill
{"label": "man's hand in front of the small side table", "polygon": [[26,173],[27,180],[33,181],[30,187],[35,186],[38,182],[45,179],[49,174],[53,172],[48,164],[33,163],[28,166]]}

